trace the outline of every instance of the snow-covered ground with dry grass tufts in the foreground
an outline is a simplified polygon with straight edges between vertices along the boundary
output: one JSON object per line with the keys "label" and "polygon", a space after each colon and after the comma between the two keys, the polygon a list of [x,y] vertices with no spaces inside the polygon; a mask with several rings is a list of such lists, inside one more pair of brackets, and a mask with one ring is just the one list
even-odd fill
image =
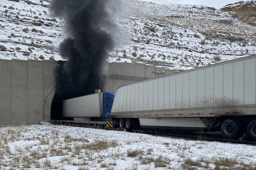
{"label": "snow-covered ground with dry grass tufts in the foreground", "polygon": [[256,146],[126,131],[0,127],[0,169],[253,169]]}

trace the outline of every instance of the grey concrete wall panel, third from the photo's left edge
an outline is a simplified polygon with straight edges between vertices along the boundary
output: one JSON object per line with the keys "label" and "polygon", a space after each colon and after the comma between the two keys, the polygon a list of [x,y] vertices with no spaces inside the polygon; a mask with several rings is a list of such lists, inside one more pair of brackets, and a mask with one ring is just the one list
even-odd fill
{"label": "grey concrete wall panel, third from the photo's left edge", "polygon": [[43,121],[44,62],[28,60],[28,123]]}

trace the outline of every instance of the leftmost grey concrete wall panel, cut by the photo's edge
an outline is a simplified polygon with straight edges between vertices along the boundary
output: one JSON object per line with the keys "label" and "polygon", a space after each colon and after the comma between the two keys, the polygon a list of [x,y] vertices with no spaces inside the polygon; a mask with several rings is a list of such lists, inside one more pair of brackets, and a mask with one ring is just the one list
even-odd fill
{"label": "leftmost grey concrete wall panel, cut by the photo's edge", "polygon": [[11,124],[12,61],[0,59],[0,124]]}

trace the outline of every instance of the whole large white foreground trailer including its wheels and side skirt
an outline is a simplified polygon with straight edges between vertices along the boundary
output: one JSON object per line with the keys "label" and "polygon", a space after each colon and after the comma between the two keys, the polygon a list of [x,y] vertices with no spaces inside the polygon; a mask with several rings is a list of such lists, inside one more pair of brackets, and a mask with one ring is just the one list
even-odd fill
{"label": "whole large white foreground trailer including its wheels and side skirt", "polygon": [[127,129],[221,130],[226,138],[256,139],[256,55],[118,87],[111,117]]}

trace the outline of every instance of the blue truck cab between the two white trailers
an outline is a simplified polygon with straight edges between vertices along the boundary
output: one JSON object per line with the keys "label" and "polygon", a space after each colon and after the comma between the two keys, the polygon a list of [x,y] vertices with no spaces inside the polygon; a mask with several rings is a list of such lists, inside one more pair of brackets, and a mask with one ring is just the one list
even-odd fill
{"label": "blue truck cab between the two white trailers", "polygon": [[106,92],[103,94],[103,120],[102,121],[110,121],[111,117],[111,109],[114,101],[115,93]]}

